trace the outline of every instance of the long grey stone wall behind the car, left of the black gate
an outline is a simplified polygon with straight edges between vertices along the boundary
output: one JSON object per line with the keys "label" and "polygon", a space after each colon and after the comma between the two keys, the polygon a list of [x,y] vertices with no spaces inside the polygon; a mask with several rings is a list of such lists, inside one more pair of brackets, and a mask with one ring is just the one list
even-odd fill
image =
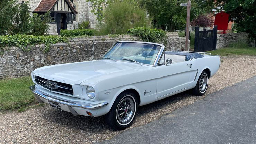
{"label": "long grey stone wall behind the car, left of the black gate", "polygon": [[[178,37],[178,33],[168,33],[167,50],[182,50],[185,47],[185,37]],[[101,58],[117,41],[136,41],[137,37],[122,35],[117,38],[96,36],[94,46],[94,60]],[[41,66],[54,64],[89,61],[92,58],[94,37],[73,38],[67,43],[56,43],[47,53],[43,53],[37,45],[31,51],[25,52],[17,47],[9,47],[0,55],[0,79],[30,75]]]}

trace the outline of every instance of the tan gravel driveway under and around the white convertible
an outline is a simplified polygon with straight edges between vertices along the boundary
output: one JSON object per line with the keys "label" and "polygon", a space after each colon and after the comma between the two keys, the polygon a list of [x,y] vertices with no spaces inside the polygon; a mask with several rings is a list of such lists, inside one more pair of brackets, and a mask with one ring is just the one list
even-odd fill
{"label": "tan gravel driveway under and around the white convertible", "polygon": [[[159,119],[177,108],[203,99],[213,91],[223,89],[256,75],[256,56],[230,56],[222,57],[221,59],[223,60],[221,68],[209,80],[206,95],[197,97],[191,95],[190,92],[183,92],[139,107],[138,115],[130,128]],[[71,113],[55,110],[49,105],[31,108],[23,113],[0,114],[1,144],[89,144],[109,139],[123,131],[109,130],[103,117],[74,117]]]}

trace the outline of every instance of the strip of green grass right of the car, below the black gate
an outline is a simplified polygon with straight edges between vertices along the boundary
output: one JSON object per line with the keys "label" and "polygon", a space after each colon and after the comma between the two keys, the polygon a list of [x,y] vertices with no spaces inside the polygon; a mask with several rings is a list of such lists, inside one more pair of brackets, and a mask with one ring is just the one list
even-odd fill
{"label": "strip of green grass right of the car, below the black gate", "polygon": [[208,51],[212,55],[219,56],[229,56],[229,55],[253,55],[256,56],[256,48],[255,47],[228,47],[221,48],[218,50]]}

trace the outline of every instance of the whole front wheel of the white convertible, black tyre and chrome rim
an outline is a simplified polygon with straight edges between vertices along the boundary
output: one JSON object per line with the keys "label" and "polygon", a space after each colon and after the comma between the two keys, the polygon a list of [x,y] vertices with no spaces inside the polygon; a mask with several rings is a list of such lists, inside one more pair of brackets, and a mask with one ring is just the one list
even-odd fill
{"label": "whole front wheel of the white convertible, black tyre and chrome rim", "polygon": [[123,130],[133,123],[137,112],[137,97],[134,93],[123,92],[115,100],[106,122],[115,130]]}

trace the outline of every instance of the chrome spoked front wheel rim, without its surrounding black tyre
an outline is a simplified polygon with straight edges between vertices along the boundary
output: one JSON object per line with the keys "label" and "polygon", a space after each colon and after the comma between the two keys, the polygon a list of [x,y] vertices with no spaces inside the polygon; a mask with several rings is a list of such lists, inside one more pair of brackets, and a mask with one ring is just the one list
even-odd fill
{"label": "chrome spoked front wheel rim, without its surrounding black tyre", "polygon": [[116,109],[116,118],[121,123],[129,123],[131,118],[134,116],[136,110],[135,100],[132,96],[127,95],[119,102]]}

